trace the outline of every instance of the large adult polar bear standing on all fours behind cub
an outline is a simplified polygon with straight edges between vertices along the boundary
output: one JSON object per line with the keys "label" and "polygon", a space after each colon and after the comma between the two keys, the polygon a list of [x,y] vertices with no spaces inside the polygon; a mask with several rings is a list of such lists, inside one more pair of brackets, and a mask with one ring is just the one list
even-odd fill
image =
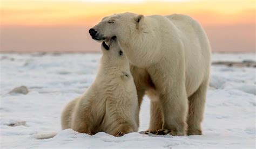
{"label": "large adult polar bear standing on all fours behind cub", "polygon": [[139,103],[150,95],[149,131],[201,134],[211,47],[196,20],[185,15],[120,13],[89,30],[99,42],[116,36],[132,64]]}

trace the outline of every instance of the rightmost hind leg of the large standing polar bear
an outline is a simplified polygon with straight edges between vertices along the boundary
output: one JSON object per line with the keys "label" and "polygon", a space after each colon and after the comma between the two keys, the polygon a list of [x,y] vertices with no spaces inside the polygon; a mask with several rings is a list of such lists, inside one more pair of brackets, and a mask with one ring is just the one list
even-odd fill
{"label": "rightmost hind leg of the large standing polar bear", "polygon": [[188,97],[187,135],[201,135],[201,122],[203,121],[208,80],[200,85],[198,90]]}

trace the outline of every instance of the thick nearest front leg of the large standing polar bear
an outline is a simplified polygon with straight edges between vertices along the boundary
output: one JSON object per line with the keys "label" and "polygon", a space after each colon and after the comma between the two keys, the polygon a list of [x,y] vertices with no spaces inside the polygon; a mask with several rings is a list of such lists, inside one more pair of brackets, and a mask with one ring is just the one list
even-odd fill
{"label": "thick nearest front leg of the large standing polar bear", "polygon": [[[174,56],[176,57],[178,56]],[[163,59],[147,70],[156,86],[163,110],[163,129],[158,130],[156,134],[169,133],[173,136],[184,136],[187,130],[188,111],[184,61]]]}

